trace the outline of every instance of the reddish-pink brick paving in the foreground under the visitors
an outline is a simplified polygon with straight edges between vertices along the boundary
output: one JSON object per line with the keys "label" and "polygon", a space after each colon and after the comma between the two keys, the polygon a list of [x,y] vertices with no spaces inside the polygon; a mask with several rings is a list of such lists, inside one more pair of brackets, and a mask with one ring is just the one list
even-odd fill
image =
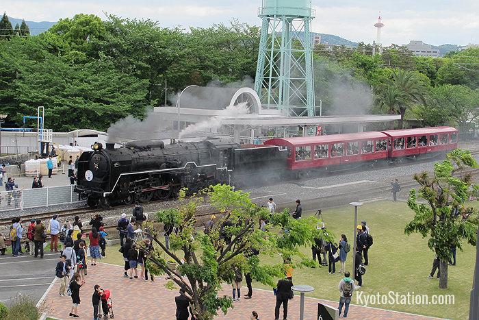
{"label": "reddish-pink brick paving in the foreground under the visitors", "polygon": [[[174,297],[177,290],[168,290],[163,277],[154,283],[144,280],[123,278],[123,268],[112,264],[99,263],[96,267],[88,267],[86,284],[80,289],[81,304],[78,308],[80,315],[77,319],[92,319],[92,293],[93,286],[100,284],[112,292],[113,310],[115,319],[175,319]],[[44,301],[44,306],[49,317],[69,319],[71,308],[70,297],[60,297],[58,289],[60,282],[56,282]],[[242,288],[242,295],[247,292]],[[231,295],[231,287],[224,286],[224,295]],[[305,320],[316,320],[318,301],[337,307],[336,301],[324,301],[315,298],[305,299]],[[300,297],[296,295],[289,300],[289,320],[298,320]],[[216,319],[250,319],[251,311],[256,310],[260,319],[274,319],[275,298],[272,292],[254,289],[253,299],[241,299],[235,302],[235,308],[229,310],[226,316],[220,315]],[[281,308],[280,318],[283,315]],[[73,319],[73,318],[72,318]],[[342,319],[342,318],[341,318]],[[366,308],[363,306],[350,306],[347,319],[431,319],[419,315],[409,315],[402,312]]]}

